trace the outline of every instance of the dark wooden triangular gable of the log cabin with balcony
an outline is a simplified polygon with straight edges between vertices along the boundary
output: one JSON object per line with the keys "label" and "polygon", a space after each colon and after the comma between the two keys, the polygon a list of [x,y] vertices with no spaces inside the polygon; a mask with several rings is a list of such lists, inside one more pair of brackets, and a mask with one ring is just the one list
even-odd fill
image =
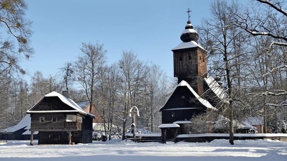
{"label": "dark wooden triangular gable of the log cabin with balcony", "polygon": [[59,110],[75,110],[67,104],[63,103],[59,97],[44,97],[30,111],[59,111]]}

